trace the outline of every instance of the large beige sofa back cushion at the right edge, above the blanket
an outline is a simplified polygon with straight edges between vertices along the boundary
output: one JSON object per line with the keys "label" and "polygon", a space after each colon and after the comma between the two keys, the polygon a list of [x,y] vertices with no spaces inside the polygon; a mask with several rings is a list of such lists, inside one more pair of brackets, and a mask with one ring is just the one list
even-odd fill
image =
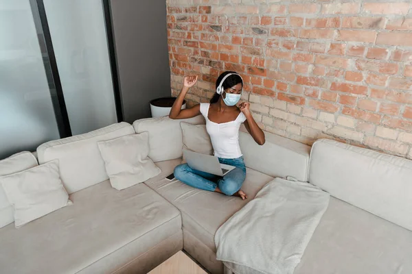
{"label": "large beige sofa back cushion at the right edge, above the blanket", "polygon": [[319,140],[310,154],[309,182],[353,206],[412,230],[410,160]]}

